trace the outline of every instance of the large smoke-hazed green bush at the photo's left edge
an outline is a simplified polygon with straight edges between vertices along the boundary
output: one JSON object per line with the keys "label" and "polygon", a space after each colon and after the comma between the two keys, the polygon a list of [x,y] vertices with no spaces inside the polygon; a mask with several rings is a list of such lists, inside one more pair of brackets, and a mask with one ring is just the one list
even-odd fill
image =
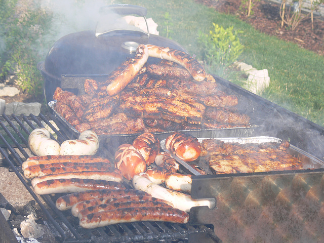
{"label": "large smoke-hazed green bush at the photo's left edge", "polygon": [[0,1],[0,39],[5,43],[0,53],[0,79],[15,73],[23,92],[41,94],[43,78],[36,64],[43,58],[39,50],[45,45],[42,37],[51,15],[42,10],[37,1],[22,14],[14,11],[17,0]]}

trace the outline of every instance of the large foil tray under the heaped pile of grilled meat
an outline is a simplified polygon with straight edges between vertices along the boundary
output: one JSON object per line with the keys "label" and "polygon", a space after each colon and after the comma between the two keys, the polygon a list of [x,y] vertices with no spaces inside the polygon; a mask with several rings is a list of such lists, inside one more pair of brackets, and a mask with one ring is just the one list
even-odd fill
{"label": "large foil tray under the heaped pile of grilled meat", "polygon": [[[64,119],[55,109],[56,100],[50,101],[48,103],[51,112],[54,117],[59,121],[57,126],[70,133],[70,137],[78,138],[80,133],[68,123],[66,119]],[[189,133],[194,137],[249,137],[252,136],[252,133],[258,126],[252,125],[251,127],[237,127],[237,128],[226,128],[226,129],[201,129],[201,130],[184,130],[183,132]],[[155,133],[157,138],[161,141],[166,139],[172,132],[158,132]],[[140,133],[137,134],[117,134],[117,135],[98,135],[99,142],[101,144],[105,144],[111,152],[115,151],[115,149],[123,143],[132,143],[135,138],[138,137]]]}

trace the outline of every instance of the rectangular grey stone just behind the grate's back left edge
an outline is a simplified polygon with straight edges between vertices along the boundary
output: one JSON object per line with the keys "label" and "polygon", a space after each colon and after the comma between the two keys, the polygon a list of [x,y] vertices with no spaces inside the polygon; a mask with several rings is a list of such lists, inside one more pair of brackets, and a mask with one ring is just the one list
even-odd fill
{"label": "rectangular grey stone just behind the grate's back left edge", "polygon": [[42,104],[38,102],[31,102],[31,103],[23,103],[23,102],[12,102],[6,105],[5,114],[34,114],[38,115],[41,113]]}

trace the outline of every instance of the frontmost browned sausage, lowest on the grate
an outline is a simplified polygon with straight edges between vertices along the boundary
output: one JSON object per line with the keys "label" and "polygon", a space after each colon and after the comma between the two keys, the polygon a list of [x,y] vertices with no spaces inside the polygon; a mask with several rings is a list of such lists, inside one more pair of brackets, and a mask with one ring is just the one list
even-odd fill
{"label": "frontmost browned sausage, lowest on the grate", "polygon": [[80,226],[96,228],[117,223],[137,221],[168,221],[172,223],[187,223],[189,215],[173,208],[126,208],[89,214],[80,219]]}

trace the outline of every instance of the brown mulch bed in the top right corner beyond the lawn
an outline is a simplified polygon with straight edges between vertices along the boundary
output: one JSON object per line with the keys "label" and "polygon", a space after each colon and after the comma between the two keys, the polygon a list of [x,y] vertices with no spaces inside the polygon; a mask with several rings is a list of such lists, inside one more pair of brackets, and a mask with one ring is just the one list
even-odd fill
{"label": "brown mulch bed in the top right corner beyond the lawn", "polygon": [[314,18],[314,29],[310,18],[304,19],[295,30],[284,25],[281,27],[279,5],[259,1],[253,8],[253,15],[247,17],[239,10],[241,1],[237,0],[195,0],[216,11],[238,16],[241,20],[250,23],[262,33],[277,36],[288,42],[296,43],[301,48],[313,51],[318,55],[324,55],[324,21],[319,17]]}

